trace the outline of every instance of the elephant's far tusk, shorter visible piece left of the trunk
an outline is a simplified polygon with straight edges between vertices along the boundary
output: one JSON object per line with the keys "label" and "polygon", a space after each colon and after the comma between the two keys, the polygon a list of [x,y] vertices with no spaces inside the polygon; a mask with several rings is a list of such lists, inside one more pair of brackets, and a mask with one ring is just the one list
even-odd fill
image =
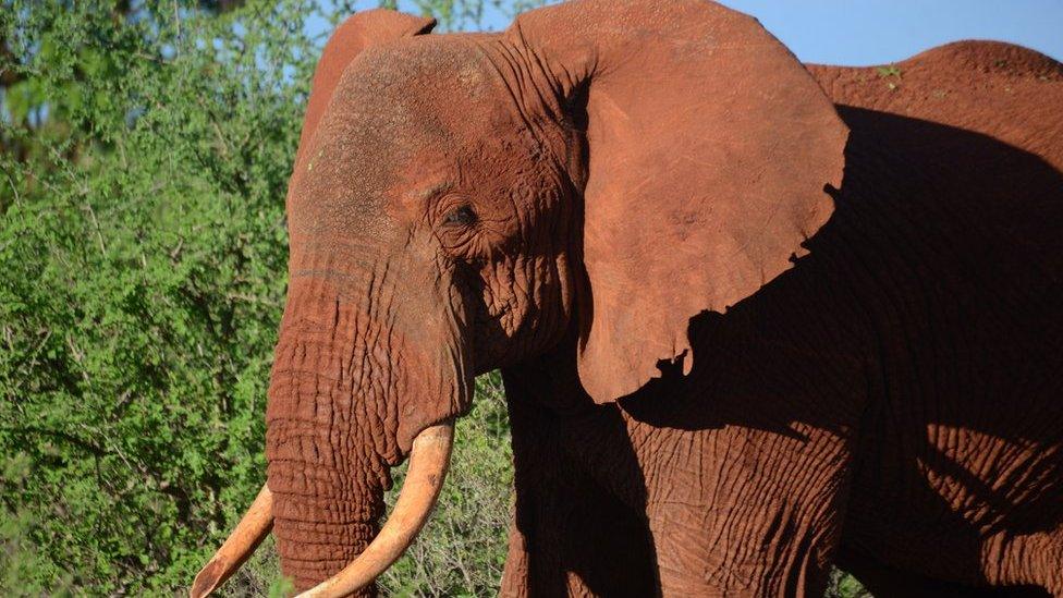
{"label": "elephant's far tusk, shorter visible piece left of the trunk", "polygon": [[272,527],[273,495],[264,484],[262,489],[255,497],[255,502],[251,503],[247,513],[236,524],[229,539],[196,575],[188,595],[192,598],[203,598],[213,591],[235,573],[240,565],[244,564]]}

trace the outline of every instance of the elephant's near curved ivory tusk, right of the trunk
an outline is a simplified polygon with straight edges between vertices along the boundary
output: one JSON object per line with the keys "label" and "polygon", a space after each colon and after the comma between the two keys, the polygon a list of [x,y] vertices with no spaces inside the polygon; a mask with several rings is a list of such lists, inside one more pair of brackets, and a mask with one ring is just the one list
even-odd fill
{"label": "elephant's near curved ivory tusk, right of the trunk", "polygon": [[454,423],[421,430],[410,451],[410,468],[399,500],[380,533],[343,571],[321,582],[297,598],[326,598],[352,594],[387,571],[417,537],[428,521],[450,466],[454,444]]}

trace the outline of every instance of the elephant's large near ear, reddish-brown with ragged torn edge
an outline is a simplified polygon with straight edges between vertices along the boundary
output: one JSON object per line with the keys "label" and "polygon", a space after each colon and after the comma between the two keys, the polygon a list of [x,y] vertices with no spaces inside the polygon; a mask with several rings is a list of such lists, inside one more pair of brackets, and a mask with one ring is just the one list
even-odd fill
{"label": "elephant's large near ear, reddish-brown with ragged torn edge", "polygon": [[506,35],[562,106],[585,110],[570,114],[588,156],[584,388],[606,403],[661,361],[688,374],[691,318],[790,268],[830,217],[847,129],[782,44],[719,4],[575,0]]}

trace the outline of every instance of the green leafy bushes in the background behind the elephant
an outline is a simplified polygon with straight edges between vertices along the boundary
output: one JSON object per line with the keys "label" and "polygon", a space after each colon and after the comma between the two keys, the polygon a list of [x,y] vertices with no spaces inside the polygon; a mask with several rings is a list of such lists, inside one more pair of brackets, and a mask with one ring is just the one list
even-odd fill
{"label": "green leafy bushes in the background behind the elephant", "polygon": [[[400,8],[457,29],[528,5]],[[283,197],[323,44],[307,23],[353,10],[0,0],[4,595],[181,591],[261,486]],[[498,376],[477,391],[388,594],[497,591],[509,429]],[[225,586],[284,589],[269,542]]]}

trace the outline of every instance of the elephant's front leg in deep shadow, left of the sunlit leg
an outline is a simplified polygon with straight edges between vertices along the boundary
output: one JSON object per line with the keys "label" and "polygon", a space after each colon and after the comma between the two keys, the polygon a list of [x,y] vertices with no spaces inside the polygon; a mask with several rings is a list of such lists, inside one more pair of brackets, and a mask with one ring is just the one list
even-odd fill
{"label": "elephant's front leg in deep shadow, left of the sunlit leg", "polygon": [[564,353],[502,370],[516,490],[503,594],[658,595],[646,484],[624,423],[616,405],[590,404]]}

